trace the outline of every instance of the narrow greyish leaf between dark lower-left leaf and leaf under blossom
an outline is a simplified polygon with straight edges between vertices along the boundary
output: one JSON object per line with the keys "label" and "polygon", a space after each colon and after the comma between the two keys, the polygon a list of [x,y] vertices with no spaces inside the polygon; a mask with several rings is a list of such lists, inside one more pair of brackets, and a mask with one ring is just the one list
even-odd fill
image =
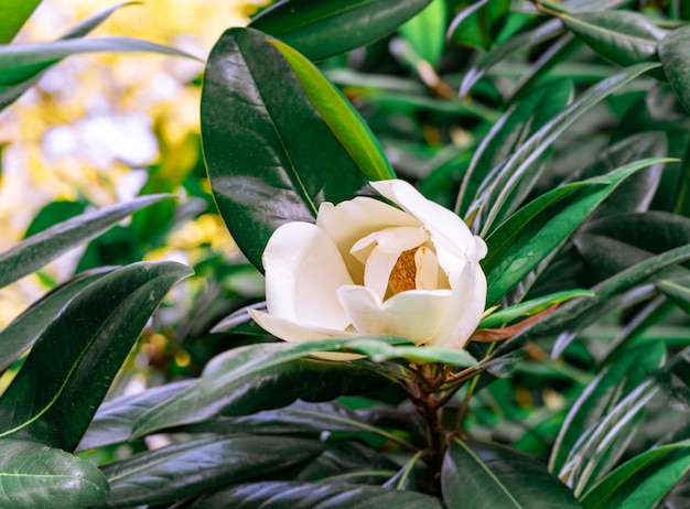
{"label": "narrow greyish leaf between dark lower-left leaf and leaf under blossom", "polygon": [[170,382],[105,402],[98,408],[76,452],[127,442],[134,422],[143,412],[194,383],[195,379]]}

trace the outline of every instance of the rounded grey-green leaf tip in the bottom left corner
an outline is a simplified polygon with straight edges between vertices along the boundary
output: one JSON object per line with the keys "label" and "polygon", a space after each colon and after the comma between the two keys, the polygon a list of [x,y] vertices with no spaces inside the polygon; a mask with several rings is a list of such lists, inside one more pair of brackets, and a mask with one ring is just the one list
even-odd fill
{"label": "rounded grey-green leaf tip in the bottom left corner", "polygon": [[35,442],[0,440],[3,507],[83,507],[108,489],[106,476],[86,459]]}

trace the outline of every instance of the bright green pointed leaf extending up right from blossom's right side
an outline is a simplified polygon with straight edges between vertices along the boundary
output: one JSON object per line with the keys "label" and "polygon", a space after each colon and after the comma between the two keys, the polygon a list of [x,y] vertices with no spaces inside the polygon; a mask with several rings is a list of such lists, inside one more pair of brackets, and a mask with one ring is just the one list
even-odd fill
{"label": "bright green pointed leaf extending up right from blossom's right side", "polygon": [[592,210],[626,177],[666,160],[626,164],[606,176],[569,184],[545,194],[515,213],[487,239],[489,305],[517,285],[542,260],[562,246]]}

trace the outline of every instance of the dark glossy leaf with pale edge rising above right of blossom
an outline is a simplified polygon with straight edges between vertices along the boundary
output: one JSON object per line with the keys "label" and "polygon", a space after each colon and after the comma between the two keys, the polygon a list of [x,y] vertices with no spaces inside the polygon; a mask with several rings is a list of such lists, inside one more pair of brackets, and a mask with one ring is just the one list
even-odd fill
{"label": "dark glossy leaf with pale edge rising above right of blossom", "polygon": [[455,205],[459,214],[464,216],[481,186],[490,184],[487,175],[492,170],[507,161],[530,136],[562,111],[572,95],[571,80],[549,83],[531,90],[494,122],[463,176]]}

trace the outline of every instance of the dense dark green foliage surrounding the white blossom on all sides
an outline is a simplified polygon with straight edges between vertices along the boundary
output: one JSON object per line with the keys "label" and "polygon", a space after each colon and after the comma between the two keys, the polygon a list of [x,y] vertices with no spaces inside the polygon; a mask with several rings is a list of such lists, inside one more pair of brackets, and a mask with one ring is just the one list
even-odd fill
{"label": "dense dark green foliage surrounding the white blossom on all sides", "polygon": [[[12,44],[32,9],[9,3],[0,108],[73,53],[186,56],[86,37],[111,11],[64,40]],[[186,203],[152,194],[175,189],[151,169],[133,202],[48,220],[0,254],[7,285],[91,241],[73,279],[0,332],[13,376],[0,396],[1,507],[688,503],[688,8],[343,6],[283,0],[219,39],[201,99],[213,201],[205,176],[183,184]],[[434,228],[450,223],[421,196],[430,220],[387,194],[396,177],[486,243],[471,342],[352,328],[281,342],[261,329],[251,316],[266,304],[236,278],[249,263],[268,281],[276,231],[312,230],[324,203],[399,205],[441,257],[454,232]],[[200,204],[217,207],[245,258],[208,253],[195,275],[138,261]],[[159,318],[185,278],[207,291]],[[172,349],[150,355],[144,391],[104,402],[142,331]]]}

